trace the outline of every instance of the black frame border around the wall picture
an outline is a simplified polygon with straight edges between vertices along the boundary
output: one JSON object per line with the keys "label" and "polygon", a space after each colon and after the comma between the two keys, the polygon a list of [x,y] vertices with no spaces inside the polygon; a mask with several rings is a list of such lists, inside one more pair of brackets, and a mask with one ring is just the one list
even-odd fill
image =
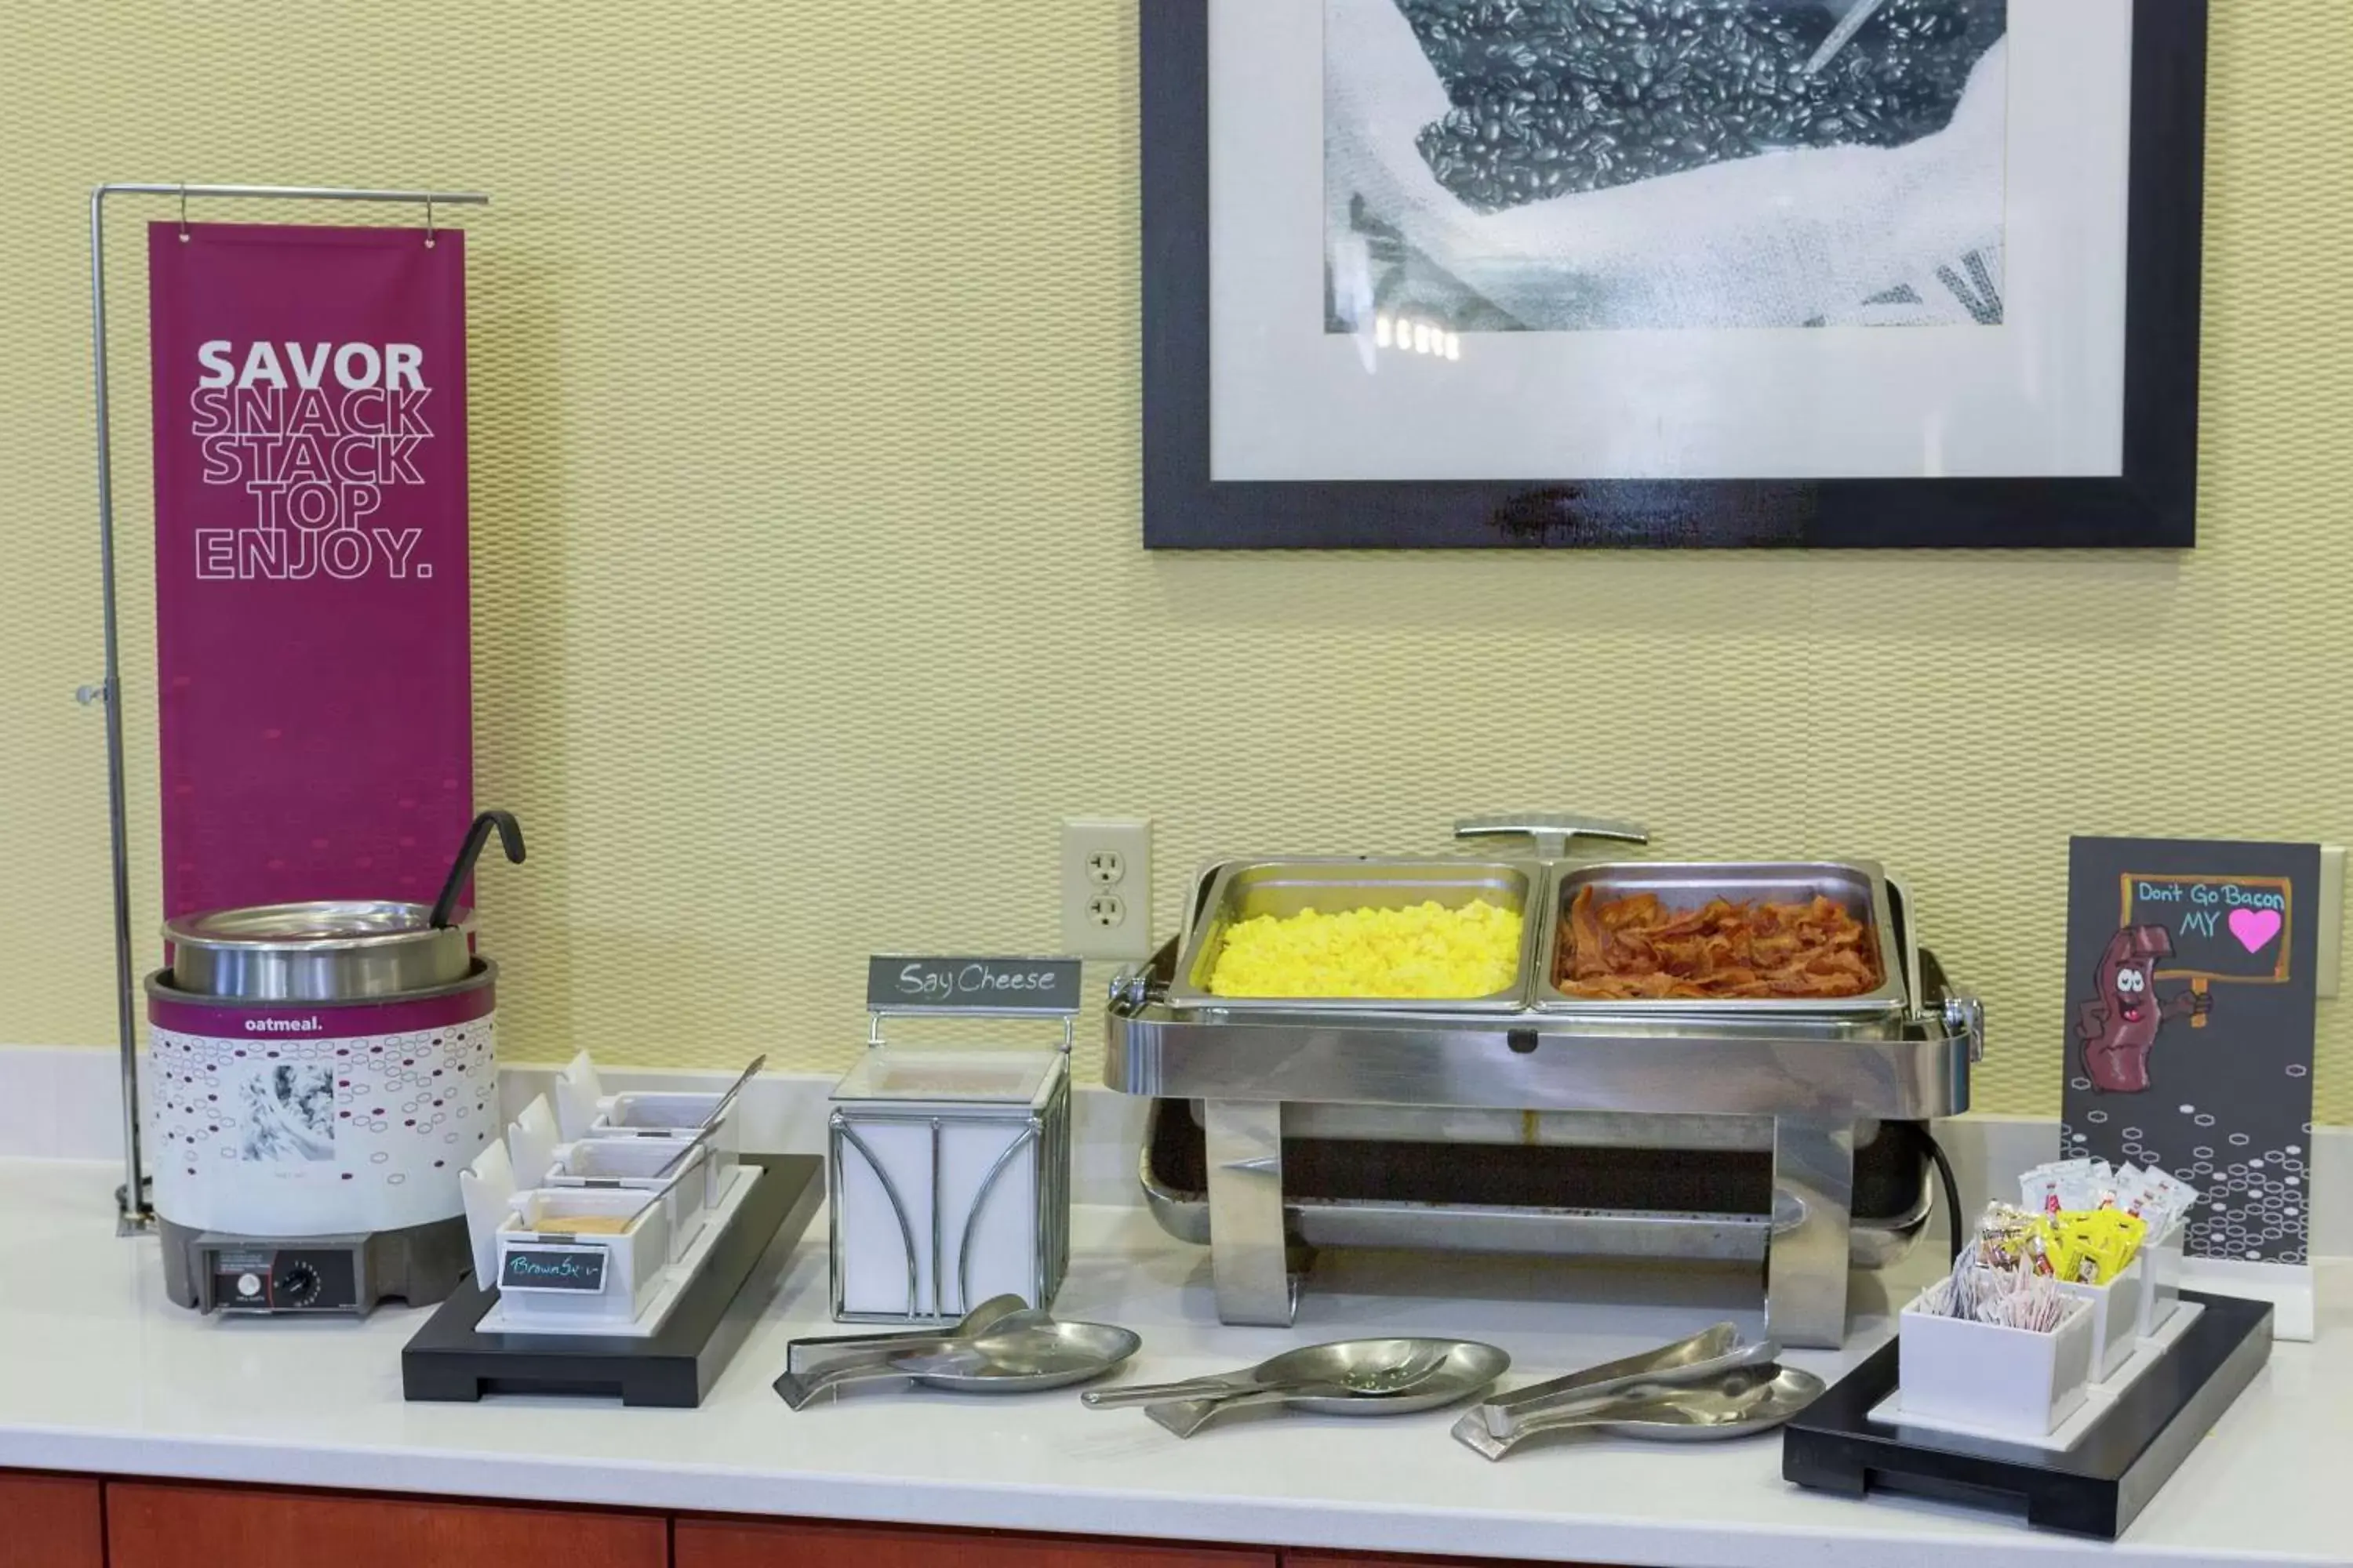
{"label": "black frame border around the wall picture", "polygon": [[2120,477],[1219,482],[1209,473],[1209,5],[1139,0],[1144,545],[2191,548],[2209,0],[2139,0]]}

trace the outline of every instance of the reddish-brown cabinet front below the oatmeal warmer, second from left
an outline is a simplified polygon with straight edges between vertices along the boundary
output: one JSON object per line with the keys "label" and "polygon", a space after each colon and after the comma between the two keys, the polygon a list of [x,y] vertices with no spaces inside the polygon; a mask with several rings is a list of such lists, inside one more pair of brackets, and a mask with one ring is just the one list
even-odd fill
{"label": "reddish-brown cabinet front below the oatmeal warmer, second from left", "polygon": [[106,1488],[108,1568],[668,1568],[661,1514],[341,1497],[245,1486]]}

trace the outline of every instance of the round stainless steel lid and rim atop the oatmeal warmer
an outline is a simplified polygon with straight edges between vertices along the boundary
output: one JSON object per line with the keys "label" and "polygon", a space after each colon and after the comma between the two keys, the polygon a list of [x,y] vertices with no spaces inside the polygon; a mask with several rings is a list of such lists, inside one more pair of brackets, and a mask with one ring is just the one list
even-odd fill
{"label": "round stainless steel lid and rim atop the oatmeal warmer", "polygon": [[179,914],[162,926],[174,987],[200,997],[358,1001],[466,978],[473,914],[447,929],[393,900],[271,903]]}

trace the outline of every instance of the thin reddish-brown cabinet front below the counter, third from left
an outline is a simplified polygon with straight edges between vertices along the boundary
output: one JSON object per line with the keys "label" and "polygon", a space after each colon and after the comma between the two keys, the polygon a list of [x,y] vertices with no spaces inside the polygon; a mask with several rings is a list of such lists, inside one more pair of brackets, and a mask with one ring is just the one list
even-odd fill
{"label": "thin reddish-brown cabinet front below the counter, third from left", "polygon": [[680,1519],[673,1552],[675,1568],[1275,1568],[1240,1547],[753,1519]]}

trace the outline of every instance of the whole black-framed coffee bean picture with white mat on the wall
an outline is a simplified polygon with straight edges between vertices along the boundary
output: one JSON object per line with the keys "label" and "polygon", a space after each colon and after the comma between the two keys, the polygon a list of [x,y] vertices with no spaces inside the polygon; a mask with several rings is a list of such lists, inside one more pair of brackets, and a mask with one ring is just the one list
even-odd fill
{"label": "whole black-framed coffee bean picture with white mat on the wall", "polygon": [[1141,0],[1146,545],[2193,545],[2205,26]]}

